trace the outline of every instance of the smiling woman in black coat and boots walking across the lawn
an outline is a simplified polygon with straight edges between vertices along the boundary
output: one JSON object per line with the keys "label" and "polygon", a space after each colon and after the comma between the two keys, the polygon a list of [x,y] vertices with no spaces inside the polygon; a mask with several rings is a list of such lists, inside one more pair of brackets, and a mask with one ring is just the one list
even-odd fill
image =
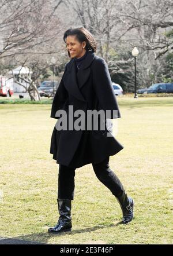
{"label": "smiling woman in black coat and boots walking across the lawn", "polygon": [[[67,30],[63,40],[70,61],[65,66],[52,103],[51,118],[58,119],[58,122],[52,132],[50,147],[52,158],[59,164],[59,219],[57,225],[49,228],[48,232],[71,231],[75,170],[89,163],[92,163],[96,177],[118,200],[123,214],[122,223],[127,224],[133,218],[134,202],[127,196],[121,181],[109,166],[110,155],[121,151],[123,146],[112,136],[110,128],[111,119],[120,118],[121,114],[107,64],[103,58],[96,56],[95,38],[85,28]],[[80,122],[75,114],[78,111],[85,114]],[[89,111],[102,111],[105,117],[100,118],[97,115],[95,122],[93,117],[88,118]],[[108,118],[107,111],[110,111]],[[59,129],[63,124],[62,115],[65,113],[66,125]],[[76,127],[81,125],[81,129],[74,129],[72,124],[78,124]],[[89,129],[88,125],[91,125]],[[104,129],[101,125],[104,125]]]}

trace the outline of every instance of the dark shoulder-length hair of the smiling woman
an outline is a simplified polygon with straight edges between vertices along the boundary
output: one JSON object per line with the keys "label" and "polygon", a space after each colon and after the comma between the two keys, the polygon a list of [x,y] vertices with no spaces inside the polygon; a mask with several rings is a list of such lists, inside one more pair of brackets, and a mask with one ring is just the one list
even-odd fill
{"label": "dark shoulder-length hair of the smiling woman", "polygon": [[[77,40],[82,43],[86,42],[86,50],[96,52],[97,42],[95,38],[93,38],[93,35],[86,30],[86,28],[69,28],[69,30],[66,30],[63,34],[63,41],[66,43],[67,36],[69,35],[76,35]],[[68,52],[69,54],[69,52]],[[69,54],[70,57],[70,54]]]}

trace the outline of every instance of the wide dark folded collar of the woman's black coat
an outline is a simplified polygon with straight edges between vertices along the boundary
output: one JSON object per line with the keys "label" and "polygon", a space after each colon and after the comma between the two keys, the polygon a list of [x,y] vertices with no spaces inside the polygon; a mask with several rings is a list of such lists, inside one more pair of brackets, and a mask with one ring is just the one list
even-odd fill
{"label": "wide dark folded collar of the woman's black coat", "polygon": [[78,70],[76,75],[76,60],[72,58],[67,64],[67,71],[65,72],[63,82],[66,90],[72,94],[73,97],[78,98],[78,100],[85,101],[80,91],[81,87],[84,86],[85,82],[88,80],[91,74],[90,65],[95,58],[94,52],[87,53],[84,61],[82,61],[80,70]]}

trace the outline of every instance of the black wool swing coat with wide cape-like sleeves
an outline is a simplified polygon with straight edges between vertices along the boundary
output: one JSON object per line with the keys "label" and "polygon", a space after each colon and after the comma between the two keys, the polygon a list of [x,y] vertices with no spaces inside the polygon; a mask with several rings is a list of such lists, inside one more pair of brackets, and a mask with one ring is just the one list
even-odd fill
{"label": "black wool swing coat with wide cape-like sleeves", "polygon": [[[51,118],[58,119],[56,112],[63,109],[68,119],[69,105],[73,105],[73,111],[82,109],[85,113],[88,109],[103,109],[105,112],[109,109],[111,119],[121,117],[106,61],[94,52],[87,52],[78,71],[75,58],[66,64],[52,102]],[[117,110],[118,115],[113,110]],[[65,166],[78,168],[88,163],[97,164],[121,149],[123,146],[107,126],[105,131],[57,130],[56,126],[52,131],[50,153],[57,163]]]}

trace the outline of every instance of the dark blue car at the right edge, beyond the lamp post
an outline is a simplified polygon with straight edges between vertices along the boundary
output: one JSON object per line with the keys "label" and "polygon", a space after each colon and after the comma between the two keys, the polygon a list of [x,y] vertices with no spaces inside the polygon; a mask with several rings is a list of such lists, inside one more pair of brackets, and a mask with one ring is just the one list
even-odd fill
{"label": "dark blue car at the right edge, beyond the lamp post", "polygon": [[138,93],[173,93],[173,83],[154,83],[149,88],[139,89]]}

